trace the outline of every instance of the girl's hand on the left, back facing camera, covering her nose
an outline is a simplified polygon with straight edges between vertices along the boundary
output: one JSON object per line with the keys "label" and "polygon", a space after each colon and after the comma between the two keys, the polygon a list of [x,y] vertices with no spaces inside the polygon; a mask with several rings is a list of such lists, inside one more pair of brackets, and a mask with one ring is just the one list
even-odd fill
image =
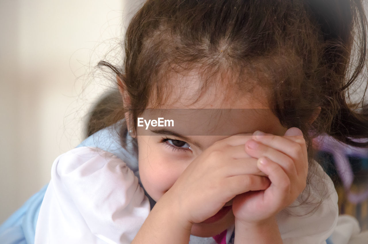
{"label": "girl's hand on the left, back facing camera, covering her nose", "polygon": [[269,187],[257,159],[245,152],[244,144],[251,137],[238,134],[212,144],[185,168],[158,203],[170,206],[173,215],[185,223],[201,223],[231,205],[236,195]]}

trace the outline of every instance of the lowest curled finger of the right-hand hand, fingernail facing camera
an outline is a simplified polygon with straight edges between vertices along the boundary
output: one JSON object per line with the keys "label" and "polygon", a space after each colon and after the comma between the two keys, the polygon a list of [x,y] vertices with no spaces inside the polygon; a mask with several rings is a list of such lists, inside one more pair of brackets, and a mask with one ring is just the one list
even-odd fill
{"label": "lowest curled finger of the right-hand hand, fingernail facing camera", "polygon": [[[290,195],[291,181],[285,171],[277,163],[269,158],[262,157],[258,160],[259,169],[268,175],[271,185],[266,189],[265,202],[272,201],[274,205],[283,205],[287,196]],[[284,205],[289,205],[288,203]]]}

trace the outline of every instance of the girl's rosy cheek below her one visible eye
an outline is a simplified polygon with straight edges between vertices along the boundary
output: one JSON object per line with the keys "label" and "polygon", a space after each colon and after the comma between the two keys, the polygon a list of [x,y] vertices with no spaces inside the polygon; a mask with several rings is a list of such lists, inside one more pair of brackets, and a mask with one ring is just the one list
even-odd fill
{"label": "girl's rosy cheek below her one visible eye", "polygon": [[[141,155],[139,155],[141,156]],[[151,152],[147,157],[139,157],[139,176],[147,193],[156,202],[169,190],[185,167],[169,157]]]}

